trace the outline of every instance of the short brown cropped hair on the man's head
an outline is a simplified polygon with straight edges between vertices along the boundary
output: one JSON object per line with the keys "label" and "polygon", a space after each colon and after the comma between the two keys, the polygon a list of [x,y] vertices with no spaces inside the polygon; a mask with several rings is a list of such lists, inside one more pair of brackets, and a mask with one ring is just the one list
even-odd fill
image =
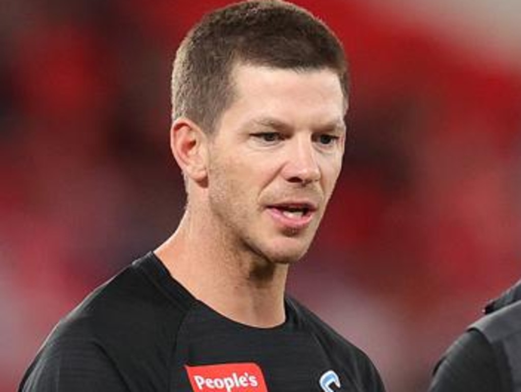
{"label": "short brown cropped hair on the man's head", "polygon": [[211,132],[233,100],[235,64],[329,68],[348,97],[348,66],[334,33],[307,10],[279,0],[247,1],[203,17],[181,43],[172,72],[172,117]]}

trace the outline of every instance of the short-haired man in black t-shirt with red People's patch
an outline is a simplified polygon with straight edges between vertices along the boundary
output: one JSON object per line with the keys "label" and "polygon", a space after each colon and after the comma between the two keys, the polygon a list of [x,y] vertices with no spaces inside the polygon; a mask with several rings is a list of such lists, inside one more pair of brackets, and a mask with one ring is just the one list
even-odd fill
{"label": "short-haired man in black t-shirt with red People's patch", "polygon": [[284,295],[344,152],[340,43],[307,11],[231,5],[182,42],[175,234],[55,328],[20,391],[383,391],[363,352]]}

